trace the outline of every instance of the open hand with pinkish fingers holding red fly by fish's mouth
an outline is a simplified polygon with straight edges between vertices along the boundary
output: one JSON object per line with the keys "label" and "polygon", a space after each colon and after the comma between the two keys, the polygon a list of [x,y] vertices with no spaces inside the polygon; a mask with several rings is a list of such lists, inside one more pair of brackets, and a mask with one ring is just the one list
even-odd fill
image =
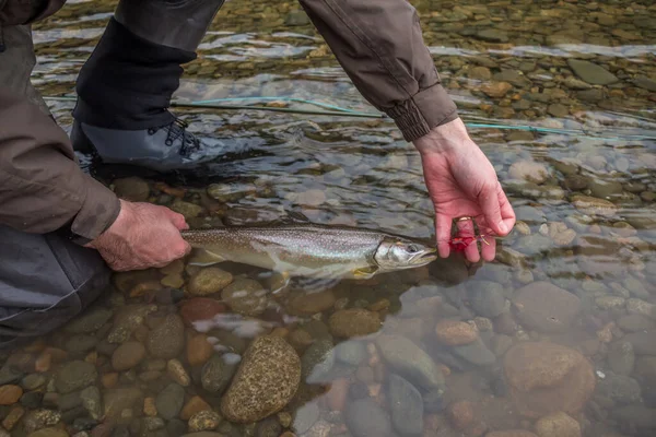
{"label": "open hand with pinkish fingers holding red fly by fish's mouth", "polygon": [[[492,164],[479,146],[469,138],[459,118],[433,129],[415,140],[414,146],[422,157],[424,179],[431,200],[435,205],[437,249],[440,256],[448,257],[452,221],[471,216],[479,233],[505,236],[515,225],[515,212],[508,202]],[[471,221],[457,222],[460,233],[475,235]],[[481,244],[482,256],[492,261],[495,240],[485,238]],[[480,260],[478,245],[472,243],[465,250],[471,262]]]}

